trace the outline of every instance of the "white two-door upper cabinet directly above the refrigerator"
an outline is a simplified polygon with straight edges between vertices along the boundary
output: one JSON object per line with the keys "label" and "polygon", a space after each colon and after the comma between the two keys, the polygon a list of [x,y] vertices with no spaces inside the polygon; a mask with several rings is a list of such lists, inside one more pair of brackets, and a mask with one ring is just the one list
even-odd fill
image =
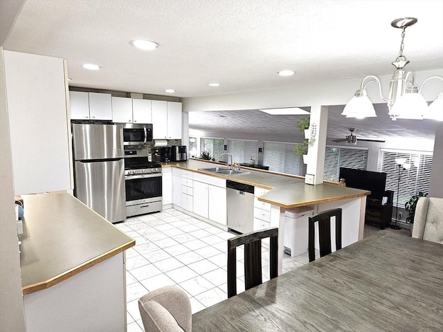
{"label": "white two-door upper cabinet directly above the refrigerator", "polygon": [[69,91],[72,120],[112,120],[110,93]]}

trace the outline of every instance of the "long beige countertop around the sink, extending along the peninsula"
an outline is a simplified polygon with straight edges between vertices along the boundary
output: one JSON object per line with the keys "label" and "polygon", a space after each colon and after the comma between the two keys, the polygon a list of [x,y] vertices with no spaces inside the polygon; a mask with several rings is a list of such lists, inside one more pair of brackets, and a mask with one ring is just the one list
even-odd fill
{"label": "long beige countertop around the sink, extending along the peninsula", "polygon": [[316,203],[338,201],[341,199],[352,199],[370,194],[367,190],[341,187],[333,183],[307,185],[305,184],[305,178],[301,176],[291,176],[289,174],[269,172],[249,167],[241,167],[242,169],[247,169],[248,172],[250,172],[249,174],[231,176],[198,170],[199,168],[211,167],[213,164],[219,163],[190,159],[187,161],[162,163],[162,166],[179,167],[201,174],[217,176],[219,178],[226,178],[231,181],[269,189],[270,191],[262,195],[259,200],[287,209]]}

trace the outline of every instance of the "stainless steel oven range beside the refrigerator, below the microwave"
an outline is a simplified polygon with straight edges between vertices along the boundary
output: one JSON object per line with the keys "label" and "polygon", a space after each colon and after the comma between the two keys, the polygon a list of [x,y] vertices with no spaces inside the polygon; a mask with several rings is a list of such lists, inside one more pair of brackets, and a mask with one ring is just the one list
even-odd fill
{"label": "stainless steel oven range beside the refrigerator, below the microwave", "polygon": [[161,211],[161,165],[147,159],[147,149],[125,150],[126,216]]}

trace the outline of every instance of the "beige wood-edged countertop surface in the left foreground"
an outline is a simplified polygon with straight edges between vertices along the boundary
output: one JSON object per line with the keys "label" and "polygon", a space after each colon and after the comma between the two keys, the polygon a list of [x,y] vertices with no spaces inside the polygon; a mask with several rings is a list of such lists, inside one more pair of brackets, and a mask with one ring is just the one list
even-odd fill
{"label": "beige wood-edged countertop surface in the left foreground", "polygon": [[70,194],[24,200],[20,241],[24,294],[51,287],[134,246],[135,241]]}

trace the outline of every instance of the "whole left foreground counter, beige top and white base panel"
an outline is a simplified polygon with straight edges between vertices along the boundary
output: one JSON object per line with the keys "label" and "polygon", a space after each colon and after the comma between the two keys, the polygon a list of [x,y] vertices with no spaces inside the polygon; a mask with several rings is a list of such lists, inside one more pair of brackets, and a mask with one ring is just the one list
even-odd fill
{"label": "whole left foreground counter, beige top and white base panel", "polygon": [[27,331],[125,331],[125,250],[134,239],[70,194],[21,198]]}

